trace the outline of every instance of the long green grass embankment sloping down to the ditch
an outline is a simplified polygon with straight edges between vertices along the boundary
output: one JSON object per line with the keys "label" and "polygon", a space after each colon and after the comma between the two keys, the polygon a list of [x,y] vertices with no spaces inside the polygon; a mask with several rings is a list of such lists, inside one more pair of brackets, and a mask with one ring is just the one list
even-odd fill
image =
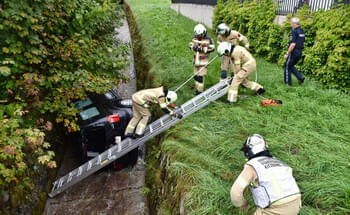
{"label": "long green grass embankment sloping down to the ditch", "polygon": [[[144,39],[152,86],[174,89],[192,74],[187,46],[196,23],[177,15],[167,0],[127,2]],[[219,61],[209,66],[207,88],[219,80]],[[148,155],[151,201],[159,203],[159,214],[178,213],[184,193],[186,214],[252,214],[255,207],[249,192],[246,213],[234,209],[229,197],[245,162],[239,148],[252,133],[265,136],[271,152],[293,167],[303,192],[300,214],[350,213],[349,96],[313,81],[302,86],[294,81],[293,87],[287,87],[281,68],[257,61],[265,96],[281,99],[283,105],[263,108],[260,97],[240,89],[249,97],[235,106],[211,104],[169,130],[160,151],[154,149]],[[178,104],[193,96],[193,85],[181,90]],[[169,158],[169,162],[163,159],[166,167],[161,170],[157,166],[160,152]],[[168,185],[156,187],[165,181]]]}

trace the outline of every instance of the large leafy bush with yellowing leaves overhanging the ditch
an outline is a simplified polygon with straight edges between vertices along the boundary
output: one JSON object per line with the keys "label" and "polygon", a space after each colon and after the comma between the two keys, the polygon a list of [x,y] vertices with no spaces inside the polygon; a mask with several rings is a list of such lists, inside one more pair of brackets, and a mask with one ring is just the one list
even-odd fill
{"label": "large leafy bush with yellowing leaves overhanging the ditch", "polygon": [[0,0],[0,191],[30,191],[35,166],[56,166],[48,119],[78,130],[72,102],[122,78],[120,17],[113,0]]}

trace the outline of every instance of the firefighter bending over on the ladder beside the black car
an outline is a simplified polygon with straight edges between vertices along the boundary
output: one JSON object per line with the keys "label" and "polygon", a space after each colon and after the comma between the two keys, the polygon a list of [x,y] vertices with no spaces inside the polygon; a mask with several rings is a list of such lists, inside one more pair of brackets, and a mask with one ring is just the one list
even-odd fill
{"label": "firefighter bending over on the ladder beside the black car", "polygon": [[141,90],[132,95],[132,111],[133,118],[130,120],[125,130],[125,136],[130,138],[142,137],[151,113],[148,108],[151,104],[158,103],[164,113],[171,116],[182,118],[181,114],[175,114],[170,107],[175,107],[172,103],[177,99],[174,91],[168,90],[166,87],[158,87],[153,89]]}

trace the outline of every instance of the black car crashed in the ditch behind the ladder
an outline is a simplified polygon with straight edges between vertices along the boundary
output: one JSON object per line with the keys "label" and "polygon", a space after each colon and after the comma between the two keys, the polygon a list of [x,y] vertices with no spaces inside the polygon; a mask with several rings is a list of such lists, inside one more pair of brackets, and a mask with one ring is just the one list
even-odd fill
{"label": "black car crashed in the ditch behind the ladder", "polygon": [[[83,101],[76,101],[75,106],[81,110],[78,124],[80,126],[80,151],[84,161],[104,152],[113,144],[115,137],[124,139],[124,131],[132,118],[131,99],[121,99],[114,87],[107,93],[91,94]],[[138,148],[117,159],[113,167],[120,169],[135,165]]]}

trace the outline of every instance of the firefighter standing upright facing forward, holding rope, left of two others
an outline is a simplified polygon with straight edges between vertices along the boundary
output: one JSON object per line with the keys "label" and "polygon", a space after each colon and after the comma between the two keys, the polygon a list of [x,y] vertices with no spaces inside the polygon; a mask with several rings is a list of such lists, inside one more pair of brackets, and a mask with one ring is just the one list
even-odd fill
{"label": "firefighter standing upright facing forward, holding rope, left of two others", "polygon": [[194,27],[194,37],[189,44],[189,48],[194,52],[195,95],[198,95],[204,91],[204,80],[207,74],[206,66],[209,62],[210,53],[215,50],[213,40],[207,36],[207,29],[202,24]]}

